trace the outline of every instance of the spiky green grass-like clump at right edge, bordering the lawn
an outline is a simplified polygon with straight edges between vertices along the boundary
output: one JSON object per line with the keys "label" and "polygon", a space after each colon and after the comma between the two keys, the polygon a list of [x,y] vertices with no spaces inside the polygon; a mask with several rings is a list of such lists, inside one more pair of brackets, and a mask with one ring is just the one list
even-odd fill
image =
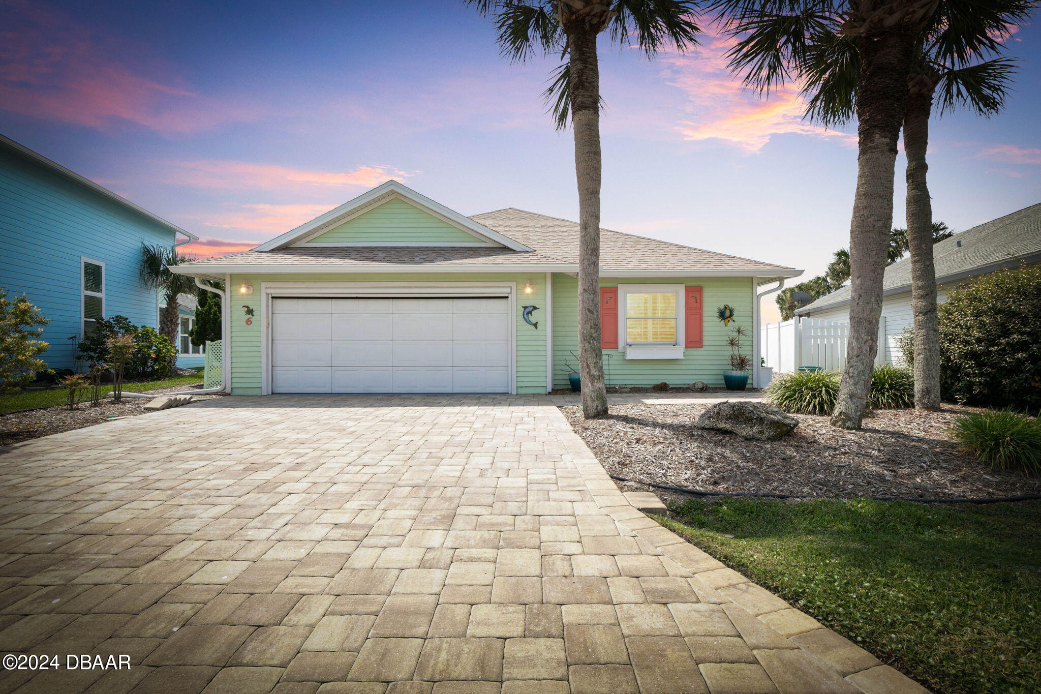
{"label": "spiky green grass-like clump at right edge, bordering the lawn", "polygon": [[987,410],[958,417],[950,430],[963,453],[991,467],[1041,472],[1041,421],[1012,410]]}

